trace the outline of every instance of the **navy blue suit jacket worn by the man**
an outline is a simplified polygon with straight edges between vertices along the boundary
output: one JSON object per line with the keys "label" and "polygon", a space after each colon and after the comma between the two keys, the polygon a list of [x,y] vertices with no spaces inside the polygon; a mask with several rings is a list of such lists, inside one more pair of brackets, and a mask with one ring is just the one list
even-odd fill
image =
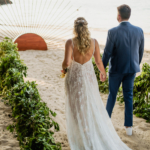
{"label": "navy blue suit jacket worn by the man", "polygon": [[102,61],[105,68],[109,61],[110,73],[136,73],[140,72],[143,52],[143,30],[129,22],[121,22],[108,31]]}

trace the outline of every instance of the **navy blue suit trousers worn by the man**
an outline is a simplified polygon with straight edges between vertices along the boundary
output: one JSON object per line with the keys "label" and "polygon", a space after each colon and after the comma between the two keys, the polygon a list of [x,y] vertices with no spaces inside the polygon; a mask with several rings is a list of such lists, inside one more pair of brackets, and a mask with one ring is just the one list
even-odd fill
{"label": "navy blue suit trousers worn by the man", "polygon": [[133,126],[133,86],[136,73],[109,73],[109,96],[106,110],[111,118],[111,114],[116,102],[118,89],[122,83],[123,96],[125,102],[125,122],[124,126]]}

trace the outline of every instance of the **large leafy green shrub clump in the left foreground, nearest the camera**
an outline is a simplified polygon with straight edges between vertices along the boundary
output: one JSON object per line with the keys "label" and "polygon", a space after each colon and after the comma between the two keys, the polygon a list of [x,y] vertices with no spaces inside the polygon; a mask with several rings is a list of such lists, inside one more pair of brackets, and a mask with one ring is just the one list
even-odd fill
{"label": "large leafy green shrub clump in the left foreground, nearest the camera", "polygon": [[[12,106],[12,116],[17,122],[10,125],[10,131],[16,130],[21,148],[43,150],[61,148],[55,144],[53,134],[59,131],[59,125],[52,119],[55,112],[49,110],[46,103],[41,102],[35,82],[20,82],[7,93],[9,104]],[[54,127],[54,131],[49,129]]]}

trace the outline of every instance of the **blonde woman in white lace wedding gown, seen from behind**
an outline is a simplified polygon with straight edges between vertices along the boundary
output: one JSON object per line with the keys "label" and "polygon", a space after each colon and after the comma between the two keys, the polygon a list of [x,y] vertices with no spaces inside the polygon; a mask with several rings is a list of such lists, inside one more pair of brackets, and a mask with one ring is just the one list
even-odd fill
{"label": "blonde woman in white lace wedding gown, seen from behind", "polygon": [[90,38],[83,17],[74,22],[73,39],[65,45],[63,72],[65,78],[67,136],[71,150],[131,150],[117,135],[99,94],[92,57],[101,72],[106,72],[97,40]]}

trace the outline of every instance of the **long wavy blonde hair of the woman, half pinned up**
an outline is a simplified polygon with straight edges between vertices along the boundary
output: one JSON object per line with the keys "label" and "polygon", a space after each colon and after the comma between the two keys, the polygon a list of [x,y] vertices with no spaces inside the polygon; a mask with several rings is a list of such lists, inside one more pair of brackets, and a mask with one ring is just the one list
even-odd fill
{"label": "long wavy blonde hair of the woman, half pinned up", "polygon": [[91,37],[87,25],[88,23],[83,17],[79,17],[74,21],[74,41],[82,55],[85,55],[91,46]]}

